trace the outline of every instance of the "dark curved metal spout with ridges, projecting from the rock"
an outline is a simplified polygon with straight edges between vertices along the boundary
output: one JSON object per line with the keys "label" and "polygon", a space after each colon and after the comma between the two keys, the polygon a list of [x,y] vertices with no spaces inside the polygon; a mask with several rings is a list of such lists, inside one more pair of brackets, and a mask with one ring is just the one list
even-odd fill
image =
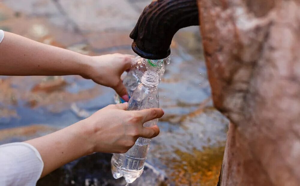
{"label": "dark curved metal spout with ridges, projecting from the rock", "polygon": [[145,7],[130,34],[132,49],[147,59],[163,59],[171,53],[175,33],[199,25],[196,0],[158,0]]}

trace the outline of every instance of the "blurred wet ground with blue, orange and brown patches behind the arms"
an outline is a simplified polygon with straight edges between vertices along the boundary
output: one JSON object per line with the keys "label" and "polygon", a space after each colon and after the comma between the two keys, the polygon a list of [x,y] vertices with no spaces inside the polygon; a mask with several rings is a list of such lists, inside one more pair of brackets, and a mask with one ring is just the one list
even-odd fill
{"label": "blurred wet ground with blue, orange and brown patches behind the arms", "polygon": [[[0,29],[76,52],[129,53],[129,33],[149,0],[2,0]],[[178,32],[159,85],[161,133],[132,185],[216,185],[228,121],[212,106],[198,27]],[[64,128],[113,103],[114,91],[80,76],[0,76],[0,144]],[[95,153],[38,185],[124,185],[110,154]]]}

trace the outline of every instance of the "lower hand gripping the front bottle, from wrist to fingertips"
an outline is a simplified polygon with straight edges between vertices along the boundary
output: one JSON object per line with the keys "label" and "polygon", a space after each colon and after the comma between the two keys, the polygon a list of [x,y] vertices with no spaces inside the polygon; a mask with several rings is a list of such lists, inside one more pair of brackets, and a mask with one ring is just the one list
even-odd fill
{"label": "lower hand gripping the front bottle, from wrist to fingertips", "polygon": [[93,152],[125,153],[139,137],[153,138],[159,134],[158,126],[143,124],[161,118],[162,109],[126,111],[127,107],[128,103],[109,105],[82,120],[82,127],[90,129],[88,140],[94,146]]}

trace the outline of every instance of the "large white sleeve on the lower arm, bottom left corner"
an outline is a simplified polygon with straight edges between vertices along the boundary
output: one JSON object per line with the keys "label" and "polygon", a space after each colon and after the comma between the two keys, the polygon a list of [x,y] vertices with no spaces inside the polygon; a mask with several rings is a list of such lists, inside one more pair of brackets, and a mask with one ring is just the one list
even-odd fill
{"label": "large white sleeve on the lower arm, bottom left corner", "polygon": [[0,185],[34,186],[41,177],[44,162],[40,153],[28,143],[0,146]]}

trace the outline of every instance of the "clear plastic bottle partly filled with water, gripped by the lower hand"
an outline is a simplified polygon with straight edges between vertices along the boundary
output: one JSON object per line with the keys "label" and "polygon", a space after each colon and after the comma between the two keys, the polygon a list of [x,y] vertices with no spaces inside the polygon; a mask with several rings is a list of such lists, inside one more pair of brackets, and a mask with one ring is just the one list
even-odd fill
{"label": "clear plastic bottle partly filled with water, gripped by the lower hand", "polygon": [[[159,96],[157,85],[159,83],[158,73],[146,71],[141,78],[141,84],[133,92],[127,110],[143,110],[159,108]],[[144,127],[157,125],[158,119],[144,123]],[[113,154],[111,170],[113,177],[118,179],[124,177],[127,183],[132,183],[141,176],[149,150],[150,139],[138,138],[134,146],[124,154]]]}

